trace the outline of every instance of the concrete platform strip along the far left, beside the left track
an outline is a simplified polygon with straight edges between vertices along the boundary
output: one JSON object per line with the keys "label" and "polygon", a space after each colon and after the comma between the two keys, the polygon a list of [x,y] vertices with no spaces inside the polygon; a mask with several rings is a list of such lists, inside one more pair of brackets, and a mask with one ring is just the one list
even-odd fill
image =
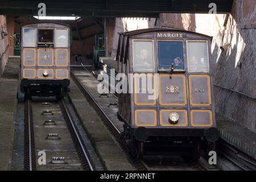
{"label": "concrete platform strip along the far left, beside the left track", "polygon": [[13,149],[19,56],[10,56],[0,78],[0,171],[10,170]]}

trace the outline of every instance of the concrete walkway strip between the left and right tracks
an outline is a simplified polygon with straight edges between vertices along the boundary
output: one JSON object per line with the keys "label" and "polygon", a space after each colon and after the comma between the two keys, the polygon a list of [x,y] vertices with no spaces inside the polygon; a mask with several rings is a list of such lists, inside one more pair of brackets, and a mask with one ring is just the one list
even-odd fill
{"label": "concrete walkway strip between the left and right tracks", "polygon": [[125,153],[106,130],[100,117],[73,80],[69,88],[71,92],[68,93],[68,97],[106,170],[134,170]]}

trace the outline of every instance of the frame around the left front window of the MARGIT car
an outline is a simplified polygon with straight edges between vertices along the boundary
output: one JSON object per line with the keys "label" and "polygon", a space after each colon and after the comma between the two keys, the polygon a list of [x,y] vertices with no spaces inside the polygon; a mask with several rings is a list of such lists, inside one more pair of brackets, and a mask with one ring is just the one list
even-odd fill
{"label": "frame around the left front window of the MARGIT car", "polygon": [[[153,69],[152,71],[135,71],[135,60],[134,60],[134,42],[152,42],[152,59],[153,59]],[[132,39],[131,42],[132,48],[132,56],[133,56],[133,72],[138,73],[154,73],[155,72],[155,40],[154,39]]]}

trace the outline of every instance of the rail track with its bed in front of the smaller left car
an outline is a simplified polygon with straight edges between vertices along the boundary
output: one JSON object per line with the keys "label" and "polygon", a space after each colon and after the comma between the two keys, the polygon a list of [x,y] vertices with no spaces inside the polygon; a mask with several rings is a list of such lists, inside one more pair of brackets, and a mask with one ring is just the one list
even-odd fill
{"label": "rail track with its bed in front of the smaller left car", "polygon": [[[24,116],[25,170],[94,170],[64,99],[47,102],[27,99]],[[46,153],[44,165],[36,161],[39,151]]]}

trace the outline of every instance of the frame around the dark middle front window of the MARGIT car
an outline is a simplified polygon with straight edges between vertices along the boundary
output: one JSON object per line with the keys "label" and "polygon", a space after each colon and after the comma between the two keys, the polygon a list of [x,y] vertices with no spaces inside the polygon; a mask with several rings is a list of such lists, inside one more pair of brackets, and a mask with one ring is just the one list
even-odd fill
{"label": "frame around the dark middle front window of the MARGIT car", "polygon": [[171,69],[159,69],[159,52],[158,52],[158,42],[181,42],[182,43],[182,49],[183,49],[183,69],[174,69],[175,72],[185,72],[185,50],[184,50],[184,40],[175,40],[175,39],[157,39],[156,40],[156,51],[157,51],[157,66],[158,66],[158,72],[170,72]]}

